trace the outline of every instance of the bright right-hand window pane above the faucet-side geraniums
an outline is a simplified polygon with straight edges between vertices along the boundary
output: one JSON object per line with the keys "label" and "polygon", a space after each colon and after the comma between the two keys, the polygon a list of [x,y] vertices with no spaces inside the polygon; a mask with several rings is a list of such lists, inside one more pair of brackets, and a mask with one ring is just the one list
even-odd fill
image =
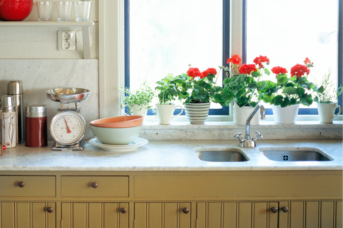
{"label": "bright right-hand window pane above the faucet-side geraniums", "polygon": [[[314,63],[308,80],[313,83],[316,80],[319,84],[320,78],[331,68],[336,85],[337,37],[337,0],[327,0],[325,4],[298,0],[247,0],[247,63],[252,63],[256,56],[267,56],[269,70],[282,66],[289,75],[292,66],[304,64],[308,57]],[[263,80],[275,81],[275,75],[271,73]],[[310,107],[317,108],[315,102]]]}

